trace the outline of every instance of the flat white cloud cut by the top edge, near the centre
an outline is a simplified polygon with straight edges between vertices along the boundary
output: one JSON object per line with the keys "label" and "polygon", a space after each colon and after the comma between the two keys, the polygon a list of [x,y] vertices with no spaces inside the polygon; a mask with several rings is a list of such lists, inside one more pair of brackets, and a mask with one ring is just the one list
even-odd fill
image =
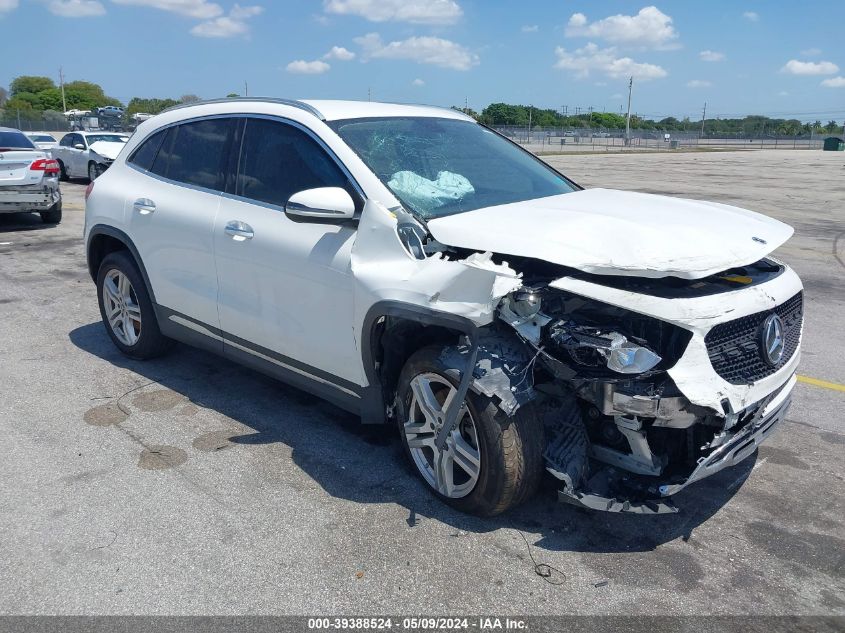
{"label": "flat white cloud cut by the top edge, near the centre", "polygon": [[454,0],[323,0],[323,8],[370,22],[412,24],[454,24],[464,13]]}

